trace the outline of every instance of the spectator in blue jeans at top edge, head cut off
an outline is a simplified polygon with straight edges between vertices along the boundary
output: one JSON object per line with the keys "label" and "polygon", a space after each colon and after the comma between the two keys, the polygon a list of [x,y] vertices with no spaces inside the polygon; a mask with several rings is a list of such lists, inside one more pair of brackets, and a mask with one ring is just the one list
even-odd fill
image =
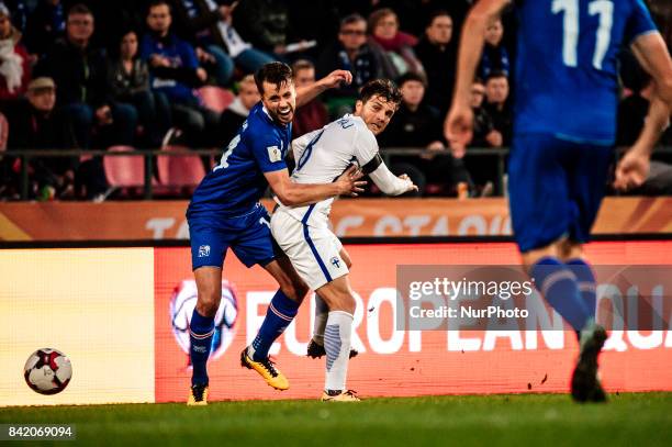
{"label": "spectator in blue jeans at top edge, head cut off", "polygon": [[233,27],[233,10],[237,3],[220,5],[214,0],[176,0],[175,4],[176,21],[182,24],[186,29],[183,31],[193,36],[197,55],[208,52],[215,58],[215,77],[220,86],[225,86],[231,80],[234,62],[248,74],[256,72],[264,64],[275,60],[270,55],[245,42]]}

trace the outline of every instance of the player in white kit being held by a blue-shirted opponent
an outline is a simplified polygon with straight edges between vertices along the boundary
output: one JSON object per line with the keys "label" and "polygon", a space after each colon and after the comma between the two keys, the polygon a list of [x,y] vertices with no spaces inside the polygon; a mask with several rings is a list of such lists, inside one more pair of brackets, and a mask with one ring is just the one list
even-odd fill
{"label": "player in white kit being held by a blue-shirted opponent", "polygon": [[[376,135],[390,123],[401,93],[389,80],[372,80],[362,87],[354,114],[346,114],[318,131],[292,142],[296,183],[331,183],[351,164],[389,195],[416,191],[406,175],[395,177],[383,163]],[[315,336],[311,348],[326,353],[323,401],[359,401],[346,389],[355,298],[348,279],[351,265],[347,252],[328,228],[334,199],[306,206],[285,206],[278,198],[271,232],[301,278],[317,300]]]}

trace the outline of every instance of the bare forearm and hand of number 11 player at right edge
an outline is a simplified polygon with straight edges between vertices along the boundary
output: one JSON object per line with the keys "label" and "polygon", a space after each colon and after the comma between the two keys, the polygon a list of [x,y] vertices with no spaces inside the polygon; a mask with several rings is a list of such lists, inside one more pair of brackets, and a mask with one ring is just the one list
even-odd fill
{"label": "bare forearm and hand of number 11 player at right edge", "polygon": [[639,137],[616,167],[614,188],[627,191],[641,186],[647,180],[653,146],[669,125],[668,104],[654,96]]}

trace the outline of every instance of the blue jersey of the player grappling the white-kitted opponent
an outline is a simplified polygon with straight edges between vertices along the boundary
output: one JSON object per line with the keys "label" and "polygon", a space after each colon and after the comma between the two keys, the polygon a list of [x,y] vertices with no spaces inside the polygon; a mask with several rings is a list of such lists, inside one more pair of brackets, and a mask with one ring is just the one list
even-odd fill
{"label": "blue jersey of the player grappling the white-kitted opponent", "polygon": [[264,172],[285,169],[292,126],[271,120],[261,102],[253,108],[222,159],[193,192],[187,214],[242,215],[256,206],[268,181]]}

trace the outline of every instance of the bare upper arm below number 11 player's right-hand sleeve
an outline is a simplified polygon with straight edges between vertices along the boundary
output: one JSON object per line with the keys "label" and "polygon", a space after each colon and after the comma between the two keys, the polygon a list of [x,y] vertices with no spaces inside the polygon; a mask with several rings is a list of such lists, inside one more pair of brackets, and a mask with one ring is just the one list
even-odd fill
{"label": "bare upper arm below number 11 player's right-hand sleeve", "polygon": [[632,41],[632,53],[656,83],[656,92],[672,113],[672,59],[660,33],[642,34]]}

